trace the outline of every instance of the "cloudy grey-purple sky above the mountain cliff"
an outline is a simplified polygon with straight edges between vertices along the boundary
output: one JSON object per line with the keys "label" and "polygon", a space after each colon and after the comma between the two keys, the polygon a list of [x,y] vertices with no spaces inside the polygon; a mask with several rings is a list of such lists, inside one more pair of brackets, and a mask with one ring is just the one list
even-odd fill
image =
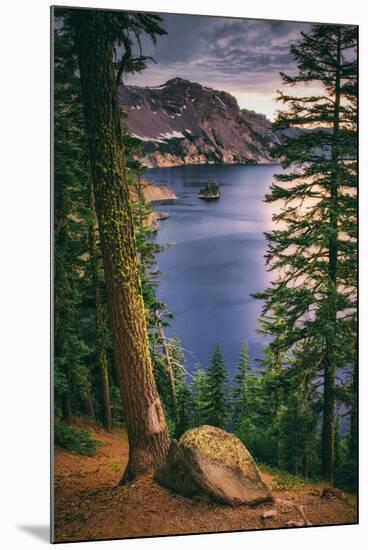
{"label": "cloudy grey-purple sky above the mountain cliff", "polygon": [[280,71],[295,74],[290,45],[308,32],[307,23],[232,19],[202,15],[162,15],[166,36],[157,45],[144,42],[149,63],[127,84],[157,86],[181,77],[230,92],[241,108],[265,114],[271,120],[280,106],[276,90]]}

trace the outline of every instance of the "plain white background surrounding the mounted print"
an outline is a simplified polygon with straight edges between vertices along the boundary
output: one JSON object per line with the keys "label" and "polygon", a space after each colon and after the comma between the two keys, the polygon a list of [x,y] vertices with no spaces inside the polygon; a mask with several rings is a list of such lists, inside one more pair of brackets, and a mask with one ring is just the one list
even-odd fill
{"label": "plain white background surrounding the mounted print", "polygon": [[[88,543],[88,548],[363,548],[368,539],[368,18],[359,0],[98,0],[63,5],[360,25],[360,525]],[[49,522],[49,2],[2,5],[0,541],[39,548]],[[5,127],[4,127],[5,121]],[[5,170],[4,170],[5,168]],[[65,545],[60,545],[64,547]]]}

